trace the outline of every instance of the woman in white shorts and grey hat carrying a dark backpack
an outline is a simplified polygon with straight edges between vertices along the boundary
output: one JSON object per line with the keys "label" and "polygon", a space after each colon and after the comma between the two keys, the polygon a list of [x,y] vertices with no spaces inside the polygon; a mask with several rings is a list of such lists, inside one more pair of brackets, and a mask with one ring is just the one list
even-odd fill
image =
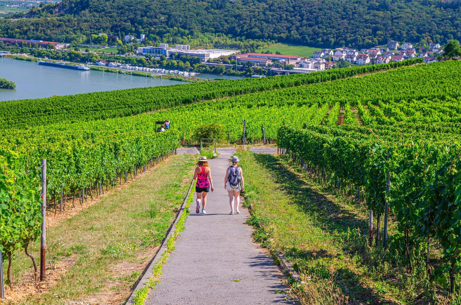
{"label": "woman in white shorts and grey hat carrying a dark backpack", "polygon": [[234,215],[234,198],[236,213],[240,214],[238,206],[240,205],[240,190],[244,191],[243,172],[238,164],[238,157],[231,158],[232,165],[227,168],[226,176],[224,177],[224,188],[229,194],[229,205],[231,205],[231,212],[229,215]]}

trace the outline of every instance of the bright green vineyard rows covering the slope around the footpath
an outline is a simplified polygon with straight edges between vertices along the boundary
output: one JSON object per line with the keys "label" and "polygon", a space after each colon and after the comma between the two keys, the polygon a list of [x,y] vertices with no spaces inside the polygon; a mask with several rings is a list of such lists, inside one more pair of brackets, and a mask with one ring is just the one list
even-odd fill
{"label": "bright green vineyard rows covering the slope around the footpath", "polygon": [[[197,144],[203,123],[217,123],[225,143],[276,143],[293,170],[308,173],[338,196],[356,196],[357,211],[370,217],[368,231],[357,229],[359,237],[354,235],[355,246],[361,245],[354,252],[357,260],[375,271],[404,270],[400,280],[416,281],[412,293],[429,303],[459,301],[460,83],[461,61],[414,59],[3,102],[2,252],[12,260],[24,244],[38,239],[42,158],[47,159],[46,198],[56,207],[85,190],[126,182],[181,144]],[[165,119],[171,128],[156,132],[156,122]],[[254,222],[257,229],[263,226],[259,221],[271,220]],[[389,235],[388,221],[394,224]]]}

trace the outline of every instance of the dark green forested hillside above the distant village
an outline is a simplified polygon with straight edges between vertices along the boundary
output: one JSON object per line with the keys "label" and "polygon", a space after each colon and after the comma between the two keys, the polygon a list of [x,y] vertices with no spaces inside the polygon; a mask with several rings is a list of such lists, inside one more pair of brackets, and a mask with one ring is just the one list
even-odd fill
{"label": "dark green forested hillside above the distant village", "polygon": [[144,33],[174,43],[223,33],[318,47],[461,39],[458,0],[64,0],[25,17],[0,19],[0,35],[70,42]]}

